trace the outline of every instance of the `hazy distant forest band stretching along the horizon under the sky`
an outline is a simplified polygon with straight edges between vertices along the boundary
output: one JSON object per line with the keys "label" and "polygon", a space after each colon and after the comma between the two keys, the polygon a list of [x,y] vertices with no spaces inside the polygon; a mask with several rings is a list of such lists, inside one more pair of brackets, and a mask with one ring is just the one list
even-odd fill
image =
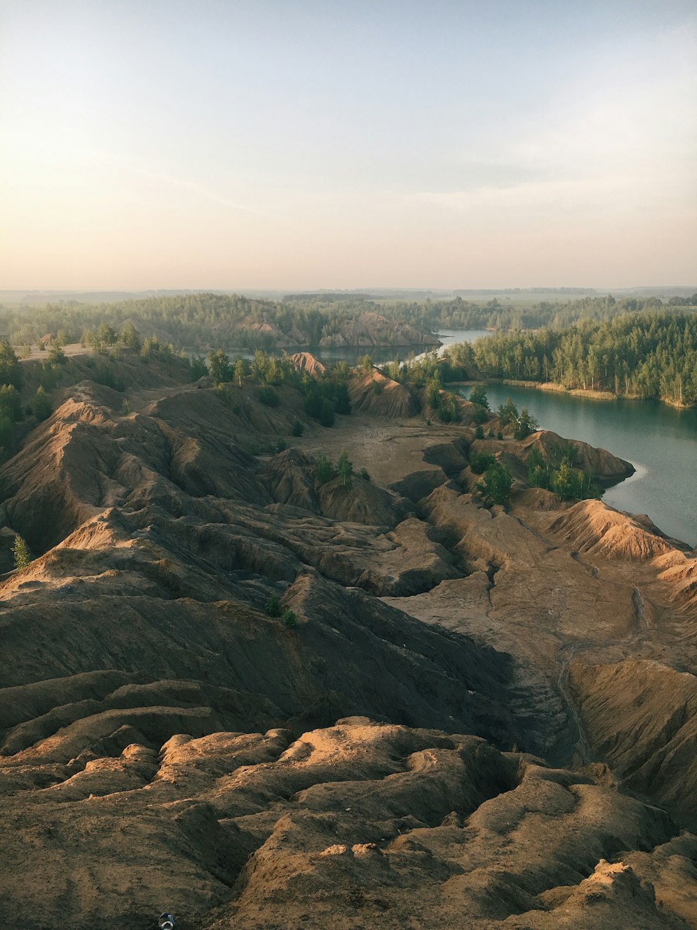
{"label": "hazy distant forest band stretching along the horizon under the sky", "polygon": [[697,306],[697,294],[687,299],[671,298],[667,305],[656,297],[614,299],[608,295],[517,306],[508,301],[501,304],[498,299],[477,303],[460,297],[406,302],[368,300],[361,295],[341,300],[335,295],[295,295],[276,301],[191,293],[120,303],[72,300],[44,307],[0,306],[0,332],[16,346],[36,344],[46,335],[67,344],[85,341],[85,335],[102,324],[120,330],[131,322],[143,337],[152,336],[189,350],[208,351],[222,345],[254,351],[283,347],[284,340],[286,345],[291,340],[296,346],[316,347],[369,312],[394,326],[413,326],[421,332],[443,328],[563,329],[582,320],[610,322],[626,314],[677,311],[678,304]]}

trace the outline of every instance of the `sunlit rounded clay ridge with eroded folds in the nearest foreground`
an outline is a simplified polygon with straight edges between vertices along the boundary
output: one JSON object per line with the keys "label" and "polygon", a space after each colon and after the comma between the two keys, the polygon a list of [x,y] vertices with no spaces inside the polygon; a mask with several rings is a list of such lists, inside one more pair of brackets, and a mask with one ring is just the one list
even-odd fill
{"label": "sunlit rounded clay ridge with eroded folds in the nearest foreground", "polygon": [[[17,817],[24,786],[3,774]],[[697,837],[602,766],[549,769],[477,737],[354,717],[296,740],[133,742],[48,778],[22,766],[24,785],[36,777],[4,834],[17,930],[58,914],[144,928],[164,907],[198,930],[693,925]]]}

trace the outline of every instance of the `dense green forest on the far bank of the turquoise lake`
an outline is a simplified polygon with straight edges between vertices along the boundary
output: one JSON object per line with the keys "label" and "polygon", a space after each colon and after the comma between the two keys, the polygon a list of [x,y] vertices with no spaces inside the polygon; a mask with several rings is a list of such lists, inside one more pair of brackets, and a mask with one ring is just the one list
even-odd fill
{"label": "dense green forest on the far bank of the turquoise lake", "polygon": [[676,405],[697,404],[697,315],[625,314],[568,329],[500,333],[446,352],[481,378],[554,382]]}

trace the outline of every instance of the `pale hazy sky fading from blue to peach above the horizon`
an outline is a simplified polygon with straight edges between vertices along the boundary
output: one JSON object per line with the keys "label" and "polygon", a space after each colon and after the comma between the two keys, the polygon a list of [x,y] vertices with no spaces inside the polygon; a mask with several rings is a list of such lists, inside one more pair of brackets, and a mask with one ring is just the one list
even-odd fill
{"label": "pale hazy sky fading from blue to peach above the horizon", "polygon": [[0,288],[697,284],[695,0],[0,0]]}

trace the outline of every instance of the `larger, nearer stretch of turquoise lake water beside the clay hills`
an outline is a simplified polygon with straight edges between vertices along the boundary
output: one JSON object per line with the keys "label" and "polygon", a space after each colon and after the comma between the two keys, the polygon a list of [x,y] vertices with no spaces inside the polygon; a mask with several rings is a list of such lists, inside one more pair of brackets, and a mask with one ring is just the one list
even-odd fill
{"label": "larger, nearer stretch of turquoise lake water beside the clay hills", "polygon": [[[581,439],[632,462],[637,472],[609,488],[603,500],[647,513],[664,533],[697,545],[697,410],[657,401],[594,401],[571,394],[486,385],[495,409],[511,397],[543,429]],[[467,396],[469,389],[462,393]]]}

